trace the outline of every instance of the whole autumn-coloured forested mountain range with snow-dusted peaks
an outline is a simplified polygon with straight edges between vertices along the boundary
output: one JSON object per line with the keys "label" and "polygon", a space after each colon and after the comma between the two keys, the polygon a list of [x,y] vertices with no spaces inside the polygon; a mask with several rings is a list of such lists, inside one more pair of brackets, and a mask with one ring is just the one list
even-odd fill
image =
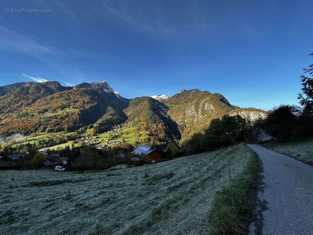
{"label": "whole autumn-coloured forested mountain range with snow-dusted peaks", "polygon": [[239,114],[255,120],[266,112],[240,108],[219,93],[181,90],[172,97],[126,99],[107,81],[61,86],[57,81],[19,82],[0,87],[0,135],[75,131],[94,134],[123,124],[146,131],[149,144],[184,141],[214,118]]}

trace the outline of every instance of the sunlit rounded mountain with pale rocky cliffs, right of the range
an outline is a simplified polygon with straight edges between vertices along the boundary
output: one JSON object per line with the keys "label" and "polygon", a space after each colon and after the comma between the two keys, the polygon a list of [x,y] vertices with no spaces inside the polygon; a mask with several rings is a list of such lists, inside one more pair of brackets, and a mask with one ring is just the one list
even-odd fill
{"label": "sunlit rounded mountain with pale rocky cliffs, right of the range", "polygon": [[219,93],[208,91],[182,90],[176,95],[163,100],[168,107],[168,114],[178,124],[182,139],[190,137],[207,128],[211,120],[223,115],[240,115],[251,121],[265,118],[266,112],[254,108],[240,108],[228,102]]}

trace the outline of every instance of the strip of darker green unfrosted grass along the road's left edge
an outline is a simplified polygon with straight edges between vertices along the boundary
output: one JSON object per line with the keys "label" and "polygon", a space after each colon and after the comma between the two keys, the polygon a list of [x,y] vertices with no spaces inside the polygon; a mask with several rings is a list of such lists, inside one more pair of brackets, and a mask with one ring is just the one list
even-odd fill
{"label": "strip of darker green unfrosted grass along the road's left edge", "polygon": [[213,199],[210,214],[210,235],[218,234],[246,234],[249,216],[255,211],[253,203],[261,171],[257,154],[251,149],[244,171],[237,175],[232,183],[218,191]]}

